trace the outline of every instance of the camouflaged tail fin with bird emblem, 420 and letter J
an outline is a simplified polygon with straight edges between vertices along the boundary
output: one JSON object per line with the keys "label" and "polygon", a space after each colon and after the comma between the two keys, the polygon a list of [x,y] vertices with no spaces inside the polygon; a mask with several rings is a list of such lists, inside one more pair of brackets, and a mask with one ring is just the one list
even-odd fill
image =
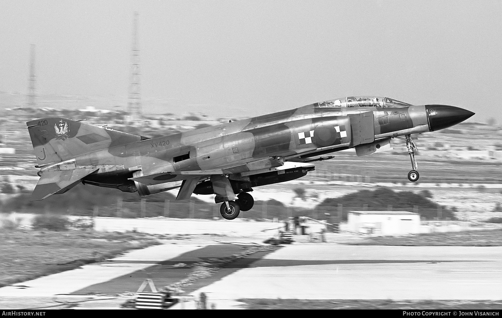
{"label": "camouflaged tail fin with bird emblem, 420 and letter J", "polygon": [[61,117],[36,119],[26,125],[41,167],[94,150],[147,139]]}

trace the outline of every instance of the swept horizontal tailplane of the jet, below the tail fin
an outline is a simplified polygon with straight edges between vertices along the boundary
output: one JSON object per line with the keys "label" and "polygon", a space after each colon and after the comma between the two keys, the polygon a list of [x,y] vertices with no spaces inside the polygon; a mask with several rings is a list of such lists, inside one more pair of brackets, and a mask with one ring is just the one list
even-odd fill
{"label": "swept horizontal tailplane of the jet, below the tail fin", "polygon": [[30,201],[40,201],[53,194],[65,193],[76,186],[82,178],[98,170],[95,168],[45,171],[38,180]]}

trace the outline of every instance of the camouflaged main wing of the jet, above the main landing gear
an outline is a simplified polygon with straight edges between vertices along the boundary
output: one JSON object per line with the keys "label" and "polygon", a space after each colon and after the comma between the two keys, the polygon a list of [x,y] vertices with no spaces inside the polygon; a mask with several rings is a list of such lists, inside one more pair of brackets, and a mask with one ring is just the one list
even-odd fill
{"label": "camouflaged main wing of the jet, above the main landing gear", "polygon": [[190,171],[166,171],[155,174],[131,178],[133,181],[146,184],[148,186],[187,179],[194,179],[211,175],[231,175],[241,172],[262,170],[267,168],[280,167],[283,164],[272,157],[260,158],[257,160],[244,160],[230,163],[226,166],[217,167],[210,170],[190,170]]}

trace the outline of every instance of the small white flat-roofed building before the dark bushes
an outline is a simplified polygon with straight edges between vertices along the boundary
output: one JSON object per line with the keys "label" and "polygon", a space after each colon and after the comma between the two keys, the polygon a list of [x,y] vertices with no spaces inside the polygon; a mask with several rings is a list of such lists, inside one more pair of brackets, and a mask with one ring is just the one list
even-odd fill
{"label": "small white flat-roofed building before the dark bushes", "polygon": [[408,211],[349,211],[348,229],[382,235],[420,232],[420,214]]}

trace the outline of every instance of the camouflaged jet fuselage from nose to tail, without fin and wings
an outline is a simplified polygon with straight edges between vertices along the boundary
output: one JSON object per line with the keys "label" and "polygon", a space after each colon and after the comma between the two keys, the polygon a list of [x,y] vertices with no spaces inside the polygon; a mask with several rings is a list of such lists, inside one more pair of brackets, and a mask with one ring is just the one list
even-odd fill
{"label": "camouflaged jet fuselage from nose to tail, without fin and wings", "polygon": [[[135,191],[129,181],[133,176],[214,170],[266,157],[287,162],[290,158],[334,152],[383,138],[434,131],[463,121],[472,114],[446,105],[413,106],[387,98],[357,100],[347,97],[164,137],[111,145],[66,162],[75,167],[99,169],[83,179],[84,183]],[[66,165],[58,163],[42,171],[62,164]],[[242,165],[241,171],[235,172],[256,168]],[[163,181],[174,188],[181,180],[182,175],[174,175]],[[141,185],[136,183],[138,186]]]}

